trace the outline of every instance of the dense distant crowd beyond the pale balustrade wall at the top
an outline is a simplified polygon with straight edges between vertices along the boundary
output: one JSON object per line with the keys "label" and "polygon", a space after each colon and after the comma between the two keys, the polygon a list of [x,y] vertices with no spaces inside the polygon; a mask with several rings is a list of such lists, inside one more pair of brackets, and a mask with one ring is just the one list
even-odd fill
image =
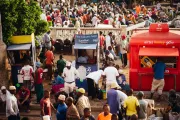
{"label": "dense distant crowd beyond the pale balustrade wall at the top", "polygon": [[120,28],[121,25],[134,25],[146,22],[146,27],[154,22],[168,22],[176,17],[179,4],[176,7],[163,7],[159,2],[147,8],[142,3],[133,3],[128,8],[127,2],[108,2],[100,0],[98,3],[88,1],[56,1],[41,2],[43,14],[41,18],[54,27],[97,27],[98,24],[112,25]]}

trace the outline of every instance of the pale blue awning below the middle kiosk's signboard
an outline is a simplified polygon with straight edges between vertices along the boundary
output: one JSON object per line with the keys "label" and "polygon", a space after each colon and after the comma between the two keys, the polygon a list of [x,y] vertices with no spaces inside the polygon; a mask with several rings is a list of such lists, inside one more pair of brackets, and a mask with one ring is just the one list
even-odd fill
{"label": "pale blue awning below the middle kiosk's signboard", "polygon": [[74,45],[74,49],[96,49],[97,44],[78,44]]}

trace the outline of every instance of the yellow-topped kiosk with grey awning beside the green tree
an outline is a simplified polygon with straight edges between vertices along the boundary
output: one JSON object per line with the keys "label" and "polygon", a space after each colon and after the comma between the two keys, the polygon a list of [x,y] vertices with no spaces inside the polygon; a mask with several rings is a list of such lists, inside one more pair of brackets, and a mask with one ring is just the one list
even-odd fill
{"label": "yellow-topped kiosk with grey awning beside the green tree", "polygon": [[13,36],[11,45],[7,47],[8,60],[11,65],[11,79],[13,85],[22,83],[19,75],[25,60],[29,60],[29,64],[35,69],[36,49],[34,42],[34,34],[24,36]]}

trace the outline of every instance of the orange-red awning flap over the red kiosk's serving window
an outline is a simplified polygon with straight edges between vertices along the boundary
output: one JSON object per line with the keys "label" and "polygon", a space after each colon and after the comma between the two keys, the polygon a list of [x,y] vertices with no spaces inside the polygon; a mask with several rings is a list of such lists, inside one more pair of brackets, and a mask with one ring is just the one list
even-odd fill
{"label": "orange-red awning flap over the red kiosk's serving window", "polygon": [[177,48],[140,48],[139,56],[179,56]]}

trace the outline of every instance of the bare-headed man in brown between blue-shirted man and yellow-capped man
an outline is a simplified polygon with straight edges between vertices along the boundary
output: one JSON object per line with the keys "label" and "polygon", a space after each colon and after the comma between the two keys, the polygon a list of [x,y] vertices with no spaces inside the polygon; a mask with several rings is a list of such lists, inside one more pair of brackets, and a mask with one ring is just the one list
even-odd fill
{"label": "bare-headed man in brown between blue-shirted man and yellow-capped man", "polygon": [[68,97],[66,100],[66,104],[68,106],[66,112],[66,120],[80,120],[80,116],[76,106],[73,104],[73,98]]}

